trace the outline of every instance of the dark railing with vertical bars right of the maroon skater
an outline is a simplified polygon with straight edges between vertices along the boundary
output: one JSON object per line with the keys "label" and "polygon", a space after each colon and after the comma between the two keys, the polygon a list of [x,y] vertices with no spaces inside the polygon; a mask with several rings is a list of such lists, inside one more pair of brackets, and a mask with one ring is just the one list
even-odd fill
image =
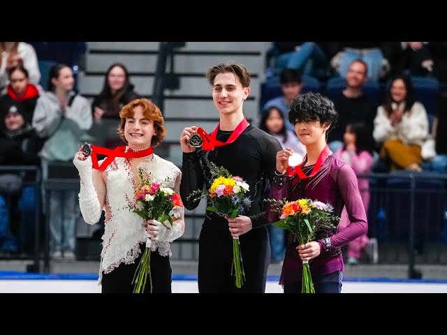
{"label": "dark railing with vertical bars right of the maroon skater", "polygon": [[369,237],[379,242],[379,262],[407,263],[409,278],[422,276],[417,262],[447,265],[447,174],[401,170],[358,178],[369,179]]}

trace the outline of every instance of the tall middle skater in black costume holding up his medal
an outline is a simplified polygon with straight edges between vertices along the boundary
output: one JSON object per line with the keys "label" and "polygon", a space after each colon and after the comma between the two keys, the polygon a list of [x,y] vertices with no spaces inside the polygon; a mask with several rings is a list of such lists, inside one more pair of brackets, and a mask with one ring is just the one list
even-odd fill
{"label": "tall middle skater in black costume holding up his medal", "polygon": [[[275,176],[279,141],[249,124],[242,105],[250,93],[250,75],[241,64],[218,64],[207,70],[214,105],[220,121],[211,135],[205,134],[203,147],[189,142],[197,126],[184,128],[180,135],[183,151],[183,178],[180,195],[184,207],[194,209],[198,200],[188,198],[193,191],[210,188],[212,163],[226,168],[249,184],[251,207],[234,219],[207,211],[199,237],[198,290],[203,292],[265,292],[270,245],[263,196],[268,181]],[[195,135],[196,136],[196,135]],[[207,140],[206,140],[207,139]],[[191,145],[192,144],[192,145]],[[235,286],[231,274],[233,237],[240,237],[245,281]]]}

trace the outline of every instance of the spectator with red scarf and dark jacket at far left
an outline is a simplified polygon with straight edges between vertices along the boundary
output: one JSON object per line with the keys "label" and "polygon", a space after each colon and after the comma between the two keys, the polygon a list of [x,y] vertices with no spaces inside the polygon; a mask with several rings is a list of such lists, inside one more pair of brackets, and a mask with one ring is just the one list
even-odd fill
{"label": "spectator with red scarf and dark jacket at far left", "polygon": [[0,114],[8,112],[13,105],[20,105],[25,121],[31,124],[39,90],[29,82],[28,70],[23,66],[9,68],[8,77],[6,94],[0,97]]}

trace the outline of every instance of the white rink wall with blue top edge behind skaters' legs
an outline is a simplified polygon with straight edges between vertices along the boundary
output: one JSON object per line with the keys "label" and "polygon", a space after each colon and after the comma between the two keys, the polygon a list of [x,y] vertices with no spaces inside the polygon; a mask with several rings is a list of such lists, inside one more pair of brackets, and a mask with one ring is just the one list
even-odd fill
{"label": "white rink wall with blue top edge behind skaters' legs", "polygon": [[[0,293],[100,293],[96,274],[30,274],[0,271]],[[282,293],[277,276],[269,276],[266,293]],[[343,293],[447,293],[447,281],[390,278],[345,278]],[[198,293],[197,277],[173,275],[173,293]]]}

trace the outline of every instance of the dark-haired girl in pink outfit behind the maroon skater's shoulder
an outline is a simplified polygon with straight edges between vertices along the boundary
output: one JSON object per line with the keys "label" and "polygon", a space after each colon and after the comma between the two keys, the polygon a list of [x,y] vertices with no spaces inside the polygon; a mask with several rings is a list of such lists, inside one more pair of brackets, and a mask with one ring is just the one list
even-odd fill
{"label": "dark-haired girl in pink outfit behind the maroon skater's shoulder", "polygon": [[[358,124],[347,124],[344,132],[344,145],[340,147],[334,154],[352,166],[356,174],[367,174],[371,172],[374,151],[374,145],[371,142],[371,137],[368,135],[367,126],[364,123]],[[367,177],[357,177],[358,189],[360,195],[362,196],[363,205],[365,206],[365,211],[368,213],[369,208],[369,179]],[[346,228],[349,223],[348,213],[346,207],[343,208],[342,216],[337,228],[342,231]],[[356,265],[358,264],[362,253],[367,250],[371,242],[372,250],[376,248],[376,239],[369,239],[367,233],[362,234],[362,236],[349,242],[347,256],[348,264]],[[375,256],[375,258],[374,258]],[[377,253],[373,252],[370,255],[373,262],[376,262]]]}

